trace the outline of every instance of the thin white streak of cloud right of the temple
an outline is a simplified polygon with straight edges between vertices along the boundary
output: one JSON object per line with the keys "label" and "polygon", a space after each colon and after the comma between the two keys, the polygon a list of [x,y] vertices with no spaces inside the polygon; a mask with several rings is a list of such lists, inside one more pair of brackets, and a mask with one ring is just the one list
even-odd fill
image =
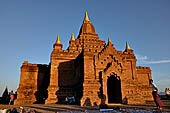
{"label": "thin white streak of cloud right of the temple", "polygon": [[142,56],[137,54],[137,63],[138,64],[162,64],[162,63],[170,63],[170,59],[163,59],[163,60],[150,60],[147,56]]}

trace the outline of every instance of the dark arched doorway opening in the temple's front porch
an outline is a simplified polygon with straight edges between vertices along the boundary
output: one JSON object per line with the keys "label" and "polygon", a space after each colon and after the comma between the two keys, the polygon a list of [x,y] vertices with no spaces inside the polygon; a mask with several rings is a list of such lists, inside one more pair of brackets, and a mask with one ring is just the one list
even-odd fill
{"label": "dark arched doorway opening in the temple's front porch", "polygon": [[121,94],[121,81],[120,78],[114,75],[111,75],[107,79],[107,95],[108,103],[121,103],[122,94]]}

